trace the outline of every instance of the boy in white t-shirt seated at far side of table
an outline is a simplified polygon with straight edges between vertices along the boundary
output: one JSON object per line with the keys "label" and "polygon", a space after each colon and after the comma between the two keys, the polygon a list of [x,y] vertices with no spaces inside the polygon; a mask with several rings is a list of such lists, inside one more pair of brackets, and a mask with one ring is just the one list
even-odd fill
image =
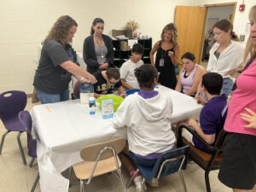
{"label": "boy in white t-shirt seated at far side of table", "polygon": [[120,68],[120,79],[125,90],[140,89],[134,74],[134,69],[144,64],[141,60],[142,56],[143,45],[134,44],[131,49],[131,58],[125,61]]}

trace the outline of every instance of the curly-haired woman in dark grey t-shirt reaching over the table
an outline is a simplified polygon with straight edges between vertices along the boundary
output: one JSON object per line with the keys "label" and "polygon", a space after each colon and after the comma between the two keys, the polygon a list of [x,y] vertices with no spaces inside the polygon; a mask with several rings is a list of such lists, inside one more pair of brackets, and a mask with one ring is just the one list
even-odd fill
{"label": "curly-haired woman in dark grey t-shirt reaching over the table", "polygon": [[79,67],[76,52],[69,44],[72,43],[77,26],[77,22],[70,16],[61,16],[42,42],[43,48],[33,82],[42,104],[67,101],[72,74],[82,83],[96,83],[93,75]]}

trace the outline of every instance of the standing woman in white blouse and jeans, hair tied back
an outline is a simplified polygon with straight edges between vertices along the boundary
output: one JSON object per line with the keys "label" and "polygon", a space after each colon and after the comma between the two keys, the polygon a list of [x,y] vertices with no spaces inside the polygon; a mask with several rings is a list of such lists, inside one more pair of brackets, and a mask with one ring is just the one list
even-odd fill
{"label": "standing woman in white blouse and jeans, hair tied back", "polygon": [[[233,32],[230,20],[219,20],[213,26],[214,40],[210,50],[207,72],[220,74],[224,78],[221,95],[230,95],[234,78],[233,75],[242,70],[241,63],[244,49],[239,43],[239,38]],[[201,84],[198,86],[196,99],[201,95]]]}

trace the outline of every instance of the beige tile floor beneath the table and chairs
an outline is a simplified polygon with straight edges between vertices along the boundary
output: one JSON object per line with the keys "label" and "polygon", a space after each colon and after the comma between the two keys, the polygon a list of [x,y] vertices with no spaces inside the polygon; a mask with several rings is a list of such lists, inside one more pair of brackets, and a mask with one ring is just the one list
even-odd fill
{"label": "beige tile floor beneath the table and chairs", "polygon": [[[36,104],[40,104],[39,102]],[[31,110],[35,104],[32,104],[31,98],[28,98],[26,110]],[[0,137],[3,136],[2,121],[0,122]],[[21,143],[26,154],[27,163],[31,158],[27,155],[26,146],[26,134],[21,134]],[[123,169],[125,182],[128,181],[128,173]],[[30,192],[35,177],[38,174],[37,161],[35,160],[34,166],[24,166],[20,156],[20,150],[16,140],[16,133],[9,133],[5,137],[3,144],[3,152],[0,154],[0,192]],[[63,175],[67,177],[68,172],[63,172]],[[205,192],[205,180],[204,171],[195,163],[189,163],[188,168],[183,171],[183,177],[188,189],[188,192]],[[79,180],[74,176],[72,177],[72,187],[70,192],[79,192]],[[210,183],[212,192],[230,192],[231,189],[224,186],[224,184],[218,181],[218,171],[210,172]],[[103,175],[92,179],[90,185],[85,186],[86,191],[122,191],[119,180],[113,175]],[[39,192],[39,184],[35,192]],[[133,185],[127,190],[128,192],[135,192]],[[183,191],[179,180],[178,173],[175,173],[169,177],[160,179],[160,187],[153,188],[148,186],[148,192],[179,192]]]}

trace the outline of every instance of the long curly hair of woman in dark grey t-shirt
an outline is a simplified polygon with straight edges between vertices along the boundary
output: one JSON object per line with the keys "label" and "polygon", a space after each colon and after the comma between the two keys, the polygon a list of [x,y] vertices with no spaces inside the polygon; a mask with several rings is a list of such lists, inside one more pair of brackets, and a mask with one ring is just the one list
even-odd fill
{"label": "long curly hair of woman in dark grey t-shirt", "polygon": [[64,15],[56,20],[54,26],[51,27],[49,34],[41,44],[45,44],[50,39],[63,41],[67,38],[68,31],[72,26],[78,26],[77,22],[70,16]]}

